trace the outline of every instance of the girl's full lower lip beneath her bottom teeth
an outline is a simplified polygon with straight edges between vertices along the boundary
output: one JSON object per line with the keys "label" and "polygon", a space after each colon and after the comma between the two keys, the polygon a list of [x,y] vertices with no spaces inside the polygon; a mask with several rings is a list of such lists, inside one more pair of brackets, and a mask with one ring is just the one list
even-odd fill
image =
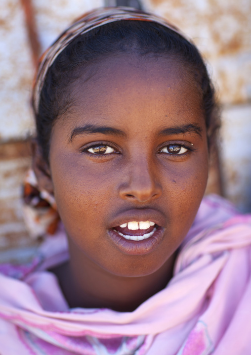
{"label": "girl's full lower lip beneath her bottom teeth", "polygon": [[158,227],[153,235],[143,240],[128,240],[116,233],[113,229],[108,230],[108,235],[122,252],[129,255],[144,255],[151,253],[158,247],[163,238],[164,228]]}

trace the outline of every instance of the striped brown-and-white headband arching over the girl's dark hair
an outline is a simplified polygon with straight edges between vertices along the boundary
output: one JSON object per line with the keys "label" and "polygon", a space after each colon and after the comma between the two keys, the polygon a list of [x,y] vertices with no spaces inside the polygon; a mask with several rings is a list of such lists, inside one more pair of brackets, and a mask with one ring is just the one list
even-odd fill
{"label": "striped brown-and-white headband arching over the girl's dark hair", "polygon": [[165,19],[147,12],[136,10],[130,7],[104,7],[85,13],[78,18],[62,35],[44,52],[42,55],[33,87],[33,107],[38,113],[40,94],[48,69],[56,60],[57,56],[70,44],[76,37],[94,28],[106,25],[111,22],[133,20],[156,22],[170,30],[178,33],[188,42],[191,42],[179,29],[167,22]]}

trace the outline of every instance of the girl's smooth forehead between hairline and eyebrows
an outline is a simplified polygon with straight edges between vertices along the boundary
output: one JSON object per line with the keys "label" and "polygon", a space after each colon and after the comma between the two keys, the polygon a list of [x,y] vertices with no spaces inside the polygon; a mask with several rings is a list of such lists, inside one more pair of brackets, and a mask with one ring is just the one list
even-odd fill
{"label": "girl's smooth forehead between hairline and eyebrows", "polygon": [[90,118],[128,127],[167,121],[204,124],[191,70],[171,57],[120,54],[100,59],[81,72],[70,94],[73,105],[65,117],[71,126]]}

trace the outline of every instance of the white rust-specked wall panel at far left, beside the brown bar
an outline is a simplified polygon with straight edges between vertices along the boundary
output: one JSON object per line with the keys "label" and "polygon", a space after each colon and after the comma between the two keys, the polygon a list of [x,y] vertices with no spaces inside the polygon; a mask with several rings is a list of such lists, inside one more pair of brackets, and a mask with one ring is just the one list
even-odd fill
{"label": "white rust-specked wall panel at far left, beside the brown bar", "polygon": [[34,68],[18,0],[1,0],[0,22],[0,140],[24,138],[33,130]]}

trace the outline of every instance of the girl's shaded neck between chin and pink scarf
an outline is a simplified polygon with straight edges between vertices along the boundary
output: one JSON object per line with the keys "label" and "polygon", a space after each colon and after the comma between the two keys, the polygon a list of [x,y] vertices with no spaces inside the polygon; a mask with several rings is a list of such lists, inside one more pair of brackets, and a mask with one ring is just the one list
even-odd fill
{"label": "girl's shaded neck between chin and pink scarf", "polygon": [[[133,311],[148,298],[166,287],[172,277],[175,255],[157,271],[140,277],[114,275],[69,243],[70,261],[53,270],[71,308],[109,308]],[[73,257],[74,255],[74,257]]]}

